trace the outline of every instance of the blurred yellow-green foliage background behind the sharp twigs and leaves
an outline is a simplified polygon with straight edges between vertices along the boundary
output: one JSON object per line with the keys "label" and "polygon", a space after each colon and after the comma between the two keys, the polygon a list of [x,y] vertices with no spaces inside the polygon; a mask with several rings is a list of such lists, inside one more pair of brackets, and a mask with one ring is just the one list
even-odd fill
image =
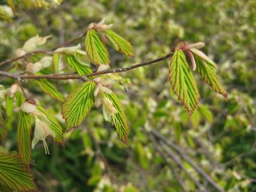
{"label": "blurred yellow-green foliage background behind the sharp twigs and leaves", "polygon": [[[148,133],[156,130],[182,148],[224,191],[256,191],[255,10],[255,0],[66,0],[56,8],[21,8],[12,21],[0,20],[0,61],[13,58],[15,50],[34,35],[53,35],[45,45],[51,47],[103,18],[135,49],[135,58],[110,49],[111,67],[158,58],[181,41],[205,42],[203,51],[218,64],[229,94],[225,102],[196,75],[201,98],[189,117],[171,91],[168,60],[122,73],[139,88],[114,87],[128,116],[128,146],[103,121],[101,110],[94,108],[83,125],[66,134],[65,148],[49,140],[51,155],[44,155],[42,143],[33,150],[31,168],[40,190],[184,191],[180,182],[185,191],[200,191],[196,180],[205,191],[216,191],[169,148],[178,157],[178,166],[164,150],[167,146]],[[0,80],[5,87],[13,82]],[[79,86],[78,80],[53,82],[65,96]],[[65,128],[61,103],[29,81],[25,85]],[[17,150],[15,121],[8,124],[9,150]]]}

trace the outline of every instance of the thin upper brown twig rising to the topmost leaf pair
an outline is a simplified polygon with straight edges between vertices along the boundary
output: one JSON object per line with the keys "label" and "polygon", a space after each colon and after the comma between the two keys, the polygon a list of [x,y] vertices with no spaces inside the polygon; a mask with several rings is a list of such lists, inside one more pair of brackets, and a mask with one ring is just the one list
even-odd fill
{"label": "thin upper brown twig rising to the topmost leaf pair", "polygon": [[46,49],[46,50],[37,50],[37,51],[30,51],[22,56],[19,56],[17,58],[12,58],[12,59],[8,59],[8,60],[4,60],[2,62],[0,62],[0,67],[5,65],[5,64],[8,64],[8,63],[11,63],[11,62],[15,62],[17,60],[22,60],[24,58],[28,58],[28,57],[31,57],[33,55],[36,55],[36,54],[49,54],[51,55],[51,51],[54,50],[54,49],[58,49],[59,47],[61,46],[65,46],[67,44],[71,44],[72,42],[76,42],[78,40],[80,40],[81,38],[85,37],[87,33],[87,30],[85,30],[85,33],[82,33],[80,34],[78,37],[75,37],[74,39],[71,39],[71,40],[67,40],[67,42],[64,42],[62,44],[58,44],[56,46],[53,46],[51,49]]}

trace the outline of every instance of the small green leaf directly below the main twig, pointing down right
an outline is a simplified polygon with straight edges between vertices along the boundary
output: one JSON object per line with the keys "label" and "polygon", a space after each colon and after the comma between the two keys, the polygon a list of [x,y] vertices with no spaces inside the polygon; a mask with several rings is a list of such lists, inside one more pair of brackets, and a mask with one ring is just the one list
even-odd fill
{"label": "small green leaf directly below the main twig, pointing down right", "polygon": [[35,83],[40,87],[42,91],[44,91],[45,94],[48,94],[52,98],[55,98],[58,101],[64,102],[65,98],[64,96],[58,91],[58,89],[51,83],[49,80],[46,79],[40,79],[35,80]]}

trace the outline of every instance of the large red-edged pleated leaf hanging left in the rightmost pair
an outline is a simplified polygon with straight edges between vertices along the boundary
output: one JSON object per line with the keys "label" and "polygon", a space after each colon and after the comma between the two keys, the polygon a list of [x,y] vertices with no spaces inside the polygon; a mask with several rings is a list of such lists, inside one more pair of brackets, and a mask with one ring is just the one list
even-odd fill
{"label": "large red-edged pleated leaf hanging left in the rightmost pair", "polygon": [[174,93],[191,115],[196,109],[200,96],[196,80],[181,50],[175,51],[171,58],[169,81]]}

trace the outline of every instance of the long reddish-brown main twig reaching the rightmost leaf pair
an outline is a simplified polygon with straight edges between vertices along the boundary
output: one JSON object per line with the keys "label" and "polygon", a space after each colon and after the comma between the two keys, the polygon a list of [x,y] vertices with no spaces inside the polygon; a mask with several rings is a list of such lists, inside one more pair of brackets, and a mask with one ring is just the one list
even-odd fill
{"label": "long reddish-brown main twig reaching the rightmost leaf pair", "polygon": [[132,69],[143,67],[143,66],[146,66],[146,65],[149,65],[149,64],[160,62],[162,60],[167,60],[167,58],[170,58],[171,55],[173,55],[172,52],[167,54],[167,55],[162,56],[161,58],[157,58],[155,60],[150,60],[150,61],[146,61],[146,62],[140,62],[140,63],[134,64],[134,65],[132,65],[130,67],[116,68],[116,69],[107,69],[107,70],[104,70],[104,71],[98,71],[98,72],[94,72],[94,73],[89,73],[89,74],[87,74],[85,76],[79,76],[79,75],[63,76],[61,74],[40,75],[40,76],[35,76],[35,75],[19,75],[19,74],[8,73],[6,71],[0,71],[0,75],[6,76],[8,78],[15,78],[15,79],[39,79],[39,78],[46,78],[46,79],[55,79],[55,80],[69,80],[69,79],[87,80],[87,78],[91,77],[91,76],[99,76],[99,75],[108,74],[108,73],[122,73],[122,72],[130,71]]}

